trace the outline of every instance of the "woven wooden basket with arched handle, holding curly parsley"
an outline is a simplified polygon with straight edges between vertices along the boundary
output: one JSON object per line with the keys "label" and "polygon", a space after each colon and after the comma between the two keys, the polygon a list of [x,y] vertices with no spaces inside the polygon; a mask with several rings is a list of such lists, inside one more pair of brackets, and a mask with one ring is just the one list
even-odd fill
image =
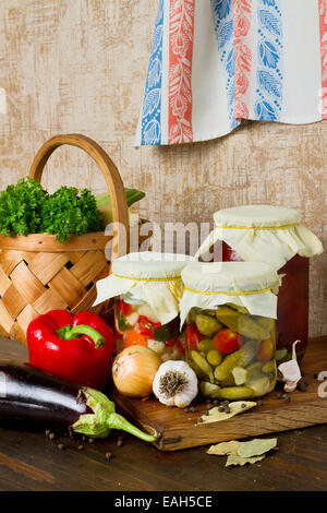
{"label": "woven wooden basket with arched handle, holding curly parsley", "polygon": [[[50,155],[63,144],[84,150],[98,164],[110,192],[113,220],[128,227],[120,174],[106,152],[90,139],[78,134],[50,139],[35,156],[29,176],[40,181]],[[111,260],[129,249],[129,241],[120,231],[113,234]],[[0,236],[0,335],[26,344],[26,329],[37,315],[55,309],[72,313],[89,310],[96,298],[95,283],[109,274],[105,247],[110,239],[104,232],[72,236],[63,243],[49,234]],[[108,305],[99,305],[92,310],[104,314],[106,308]]]}

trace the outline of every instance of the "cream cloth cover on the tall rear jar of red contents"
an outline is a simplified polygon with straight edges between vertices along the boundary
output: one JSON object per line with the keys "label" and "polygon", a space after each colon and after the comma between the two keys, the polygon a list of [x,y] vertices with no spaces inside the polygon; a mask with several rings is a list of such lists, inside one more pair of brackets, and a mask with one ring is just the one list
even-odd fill
{"label": "cream cloth cover on the tall rear jar of red contents", "polygon": [[216,228],[195,254],[199,258],[223,240],[245,262],[266,262],[277,271],[296,253],[314,256],[324,251],[319,239],[300,225],[300,213],[271,205],[244,205],[214,214]]}

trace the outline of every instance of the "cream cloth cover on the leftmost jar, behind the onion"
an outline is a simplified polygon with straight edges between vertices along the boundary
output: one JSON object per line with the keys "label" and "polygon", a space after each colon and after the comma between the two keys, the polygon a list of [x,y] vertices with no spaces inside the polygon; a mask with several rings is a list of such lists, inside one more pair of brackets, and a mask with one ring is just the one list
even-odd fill
{"label": "cream cloth cover on the leftmost jar, behind the onion", "polygon": [[99,279],[94,303],[130,294],[147,302],[159,322],[167,324],[179,314],[183,294],[181,271],[192,256],[144,251],[129,253],[113,261],[112,274]]}

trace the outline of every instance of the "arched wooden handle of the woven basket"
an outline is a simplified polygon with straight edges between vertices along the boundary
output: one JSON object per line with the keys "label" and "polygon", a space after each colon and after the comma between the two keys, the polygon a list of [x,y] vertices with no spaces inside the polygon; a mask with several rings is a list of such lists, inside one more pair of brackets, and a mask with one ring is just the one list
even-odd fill
{"label": "arched wooden handle of the woven basket", "polygon": [[114,226],[119,227],[123,225],[125,228],[124,230],[116,229],[113,232],[111,260],[114,260],[117,256],[122,256],[125,252],[129,252],[129,211],[126,196],[119,170],[101,146],[92,139],[76,133],[55,135],[55,138],[49,139],[49,141],[47,141],[35,155],[31,166],[29,177],[34,178],[35,181],[40,182],[43,171],[48,159],[55,150],[63,144],[84,150],[84,152],[86,152],[100,168],[111,198],[112,219]]}

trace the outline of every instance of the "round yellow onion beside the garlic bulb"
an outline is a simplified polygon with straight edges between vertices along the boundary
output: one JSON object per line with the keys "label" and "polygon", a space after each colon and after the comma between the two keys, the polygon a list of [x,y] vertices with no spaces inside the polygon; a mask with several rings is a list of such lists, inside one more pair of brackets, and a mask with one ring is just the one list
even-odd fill
{"label": "round yellow onion beside the garlic bulb", "polygon": [[126,347],[112,363],[112,378],[117,390],[129,397],[149,395],[160,365],[159,356],[148,347]]}

